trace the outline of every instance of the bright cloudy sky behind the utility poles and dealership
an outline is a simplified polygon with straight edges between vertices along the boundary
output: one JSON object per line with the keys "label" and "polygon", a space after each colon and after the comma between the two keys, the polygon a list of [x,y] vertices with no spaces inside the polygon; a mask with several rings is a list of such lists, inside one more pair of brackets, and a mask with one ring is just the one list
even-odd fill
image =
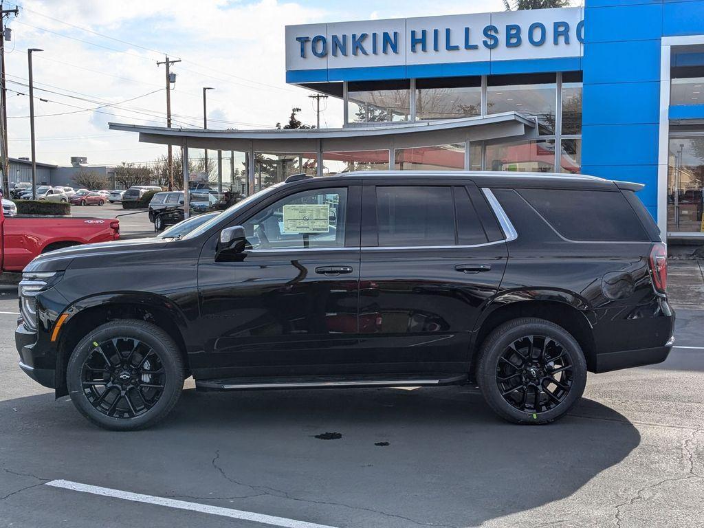
{"label": "bright cloudy sky behind the utility poles and dealership", "polygon": [[[576,2],[577,3],[577,2]],[[380,6],[380,4],[382,6]],[[4,8],[15,4],[5,2]],[[172,92],[174,126],[264,128],[285,122],[294,106],[315,122],[310,92],[284,80],[284,26],[338,20],[503,11],[501,0],[26,0],[11,17],[6,42],[9,152],[30,155],[27,49],[33,54],[37,161],[68,165],[149,162],[163,146],[107,123],[165,125],[164,54],[181,58]],[[45,99],[39,101],[37,98]],[[110,105],[110,106],[106,106]],[[329,99],[322,126],[341,125]]]}

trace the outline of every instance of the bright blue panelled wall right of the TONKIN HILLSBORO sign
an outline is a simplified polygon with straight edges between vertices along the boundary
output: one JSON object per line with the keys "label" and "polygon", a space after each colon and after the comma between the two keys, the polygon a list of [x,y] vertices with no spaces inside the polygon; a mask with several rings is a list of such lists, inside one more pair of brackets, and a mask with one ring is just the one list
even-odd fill
{"label": "bright blue panelled wall right of the TONKIN HILLSBORO sign", "polygon": [[660,46],[704,34],[704,0],[586,0],[582,172],[646,184],[658,212]]}

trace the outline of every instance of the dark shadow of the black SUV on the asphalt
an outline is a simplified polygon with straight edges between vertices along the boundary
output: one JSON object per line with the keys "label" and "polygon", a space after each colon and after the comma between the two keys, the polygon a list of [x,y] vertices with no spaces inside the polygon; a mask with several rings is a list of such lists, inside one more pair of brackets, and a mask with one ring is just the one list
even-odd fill
{"label": "dark shadow of the black SUV on the asphalt", "polygon": [[521,427],[462,387],[186,390],[132,433],[44,394],[1,402],[0,423],[11,470],[335,527],[476,526],[574,494],[641,439],[594,401]]}

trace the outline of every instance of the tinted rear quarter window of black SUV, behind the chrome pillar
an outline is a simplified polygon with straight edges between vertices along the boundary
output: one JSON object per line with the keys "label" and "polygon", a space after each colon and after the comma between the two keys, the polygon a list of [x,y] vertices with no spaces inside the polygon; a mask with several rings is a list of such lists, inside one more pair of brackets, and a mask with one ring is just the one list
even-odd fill
{"label": "tinted rear quarter window of black SUV, behind the chrome pillar", "polygon": [[641,220],[620,191],[581,189],[516,189],[516,191],[566,239],[650,240]]}

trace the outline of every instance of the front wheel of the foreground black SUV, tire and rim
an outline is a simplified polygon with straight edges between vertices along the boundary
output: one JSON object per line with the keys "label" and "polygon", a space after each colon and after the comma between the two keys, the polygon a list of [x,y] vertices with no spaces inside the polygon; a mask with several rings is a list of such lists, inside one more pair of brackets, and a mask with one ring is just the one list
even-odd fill
{"label": "front wheel of the foreground black SUV, tire and rim", "polygon": [[163,420],[176,405],[183,380],[177,344],[163,329],[141,320],[115,320],[93,329],[66,367],[73,405],[90,422],[113,431],[144,429]]}

